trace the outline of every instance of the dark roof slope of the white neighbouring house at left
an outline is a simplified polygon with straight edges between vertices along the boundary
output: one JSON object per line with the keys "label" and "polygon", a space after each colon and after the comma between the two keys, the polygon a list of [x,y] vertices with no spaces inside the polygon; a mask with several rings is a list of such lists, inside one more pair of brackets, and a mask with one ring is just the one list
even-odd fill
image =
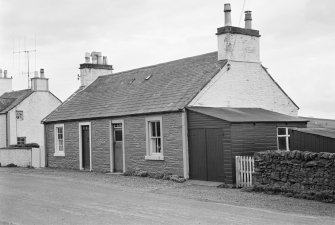
{"label": "dark roof slope of the white neighbouring house at left", "polygon": [[6,92],[0,96],[0,114],[7,113],[15,106],[19,105],[24,99],[31,95],[31,89]]}

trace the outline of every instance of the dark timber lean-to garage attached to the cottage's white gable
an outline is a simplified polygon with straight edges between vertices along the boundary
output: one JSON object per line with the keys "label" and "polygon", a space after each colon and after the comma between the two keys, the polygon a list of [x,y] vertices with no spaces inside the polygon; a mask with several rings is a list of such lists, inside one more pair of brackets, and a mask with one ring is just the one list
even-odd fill
{"label": "dark timber lean-to garage attached to the cottage's white gable", "polygon": [[234,184],[235,156],[281,146],[289,150],[288,128],[304,128],[307,122],[261,108],[189,107],[190,179]]}

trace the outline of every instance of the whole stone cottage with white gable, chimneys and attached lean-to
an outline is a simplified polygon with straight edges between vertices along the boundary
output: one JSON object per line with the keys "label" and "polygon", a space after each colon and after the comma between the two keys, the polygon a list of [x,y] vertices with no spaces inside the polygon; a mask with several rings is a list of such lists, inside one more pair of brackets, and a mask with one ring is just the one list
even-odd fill
{"label": "whole stone cottage with white gable, chimneys and attached lean-to", "polygon": [[87,54],[82,86],[43,120],[48,166],[233,183],[234,155],[288,150],[307,120],[262,66],[251,12],[239,28],[230,11],[217,52],[114,74]]}

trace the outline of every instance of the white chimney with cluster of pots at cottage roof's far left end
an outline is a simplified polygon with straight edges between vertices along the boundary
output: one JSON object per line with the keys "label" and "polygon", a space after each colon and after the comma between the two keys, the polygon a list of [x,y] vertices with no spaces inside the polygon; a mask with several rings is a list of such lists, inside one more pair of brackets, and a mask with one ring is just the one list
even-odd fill
{"label": "white chimney with cluster of pots at cottage roof's far left end", "polygon": [[107,64],[107,56],[102,57],[101,52],[87,52],[85,63],[80,64],[79,69],[80,85],[88,86],[99,76],[112,74],[113,66]]}

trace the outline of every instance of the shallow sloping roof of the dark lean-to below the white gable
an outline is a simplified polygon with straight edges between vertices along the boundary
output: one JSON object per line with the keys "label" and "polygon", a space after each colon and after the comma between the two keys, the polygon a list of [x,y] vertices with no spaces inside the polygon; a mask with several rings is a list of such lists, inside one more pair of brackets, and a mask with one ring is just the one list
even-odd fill
{"label": "shallow sloping roof of the dark lean-to below the white gable", "polygon": [[187,109],[229,122],[308,122],[299,117],[261,109],[229,107],[188,107]]}

